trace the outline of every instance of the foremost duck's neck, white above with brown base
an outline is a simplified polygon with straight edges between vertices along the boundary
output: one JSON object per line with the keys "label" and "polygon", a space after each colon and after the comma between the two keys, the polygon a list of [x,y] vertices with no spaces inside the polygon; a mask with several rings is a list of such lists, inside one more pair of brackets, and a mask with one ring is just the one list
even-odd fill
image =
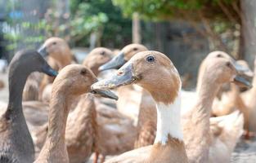
{"label": "foremost duck's neck, white above with brown base", "polygon": [[164,159],[187,162],[182,135],[180,95],[179,91],[171,104],[156,102],[157,129],[149,162],[163,162]]}

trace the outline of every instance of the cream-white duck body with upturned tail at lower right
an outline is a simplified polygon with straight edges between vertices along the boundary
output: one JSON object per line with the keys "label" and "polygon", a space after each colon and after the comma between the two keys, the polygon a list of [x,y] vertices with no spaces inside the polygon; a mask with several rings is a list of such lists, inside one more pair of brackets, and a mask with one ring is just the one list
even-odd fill
{"label": "cream-white duck body with upturned tail at lower right", "polygon": [[210,118],[209,161],[230,162],[237,140],[243,134],[243,113],[236,110],[227,116]]}

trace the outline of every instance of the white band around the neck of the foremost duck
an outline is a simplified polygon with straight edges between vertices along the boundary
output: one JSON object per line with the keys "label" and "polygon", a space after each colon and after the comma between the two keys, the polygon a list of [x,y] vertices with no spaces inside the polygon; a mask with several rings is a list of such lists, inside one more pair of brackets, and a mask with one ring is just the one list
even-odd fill
{"label": "white band around the neck of the foremost duck", "polygon": [[156,103],[157,130],[155,143],[166,144],[168,134],[179,140],[183,140],[181,124],[181,92],[178,92],[173,104]]}

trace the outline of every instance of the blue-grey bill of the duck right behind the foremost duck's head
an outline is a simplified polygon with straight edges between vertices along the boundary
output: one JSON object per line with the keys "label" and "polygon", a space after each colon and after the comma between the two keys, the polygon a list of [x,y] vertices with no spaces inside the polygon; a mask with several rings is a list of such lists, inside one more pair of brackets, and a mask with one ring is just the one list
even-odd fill
{"label": "blue-grey bill of the duck right behind the foremost duck's head", "polygon": [[122,67],[127,61],[124,59],[124,53],[121,52],[119,55],[116,55],[113,59],[111,59],[106,64],[101,65],[99,71],[105,71],[107,69],[113,68],[120,68]]}

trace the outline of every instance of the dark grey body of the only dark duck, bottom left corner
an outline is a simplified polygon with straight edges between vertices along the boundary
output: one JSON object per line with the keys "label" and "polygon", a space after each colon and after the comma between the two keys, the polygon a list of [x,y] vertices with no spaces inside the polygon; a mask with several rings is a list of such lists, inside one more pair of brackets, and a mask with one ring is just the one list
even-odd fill
{"label": "dark grey body of the only dark duck, bottom left corner", "polygon": [[[16,109],[21,110],[22,108]],[[34,143],[23,115],[14,118],[2,116],[0,135],[0,162],[23,163],[34,161]]]}

